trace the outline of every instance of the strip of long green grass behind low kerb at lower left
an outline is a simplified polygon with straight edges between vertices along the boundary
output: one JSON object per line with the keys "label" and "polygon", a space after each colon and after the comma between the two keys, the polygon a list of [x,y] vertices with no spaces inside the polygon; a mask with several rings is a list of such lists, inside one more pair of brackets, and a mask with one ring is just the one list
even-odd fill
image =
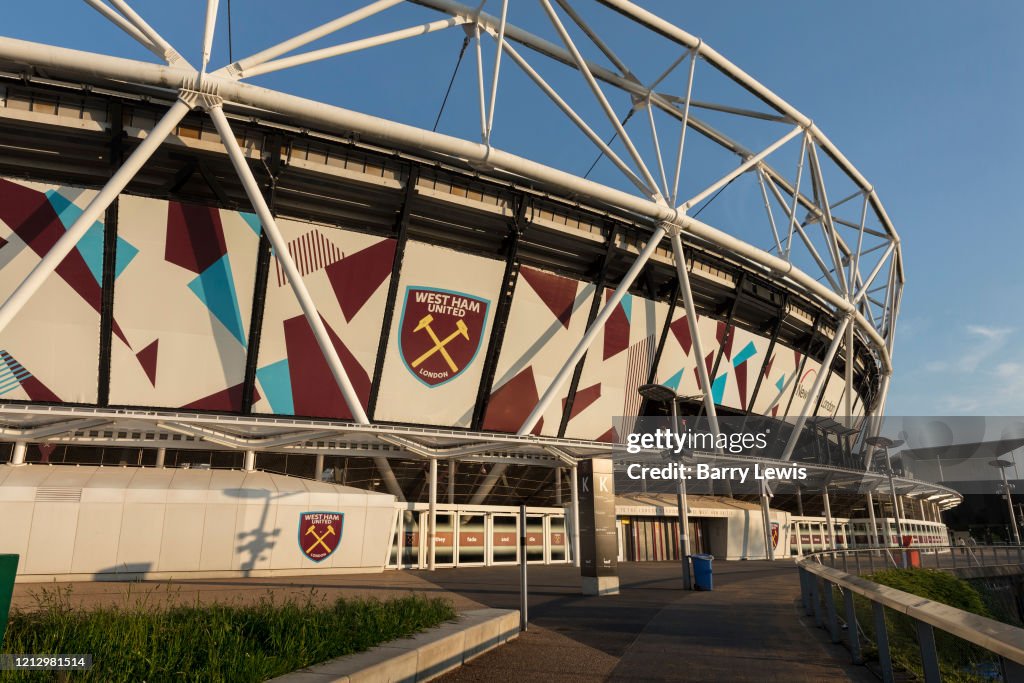
{"label": "strip of long green grass behind low kerb at lower left", "polygon": [[[264,681],[333,657],[411,636],[455,617],[451,601],[418,595],[388,601],[303,600],[256,604],[74,609],[70,594],[43,591],[38,608],[11,613],[3,651],[93,655],[69,680]],[[0,673],[0,681],[53,680]]]}

